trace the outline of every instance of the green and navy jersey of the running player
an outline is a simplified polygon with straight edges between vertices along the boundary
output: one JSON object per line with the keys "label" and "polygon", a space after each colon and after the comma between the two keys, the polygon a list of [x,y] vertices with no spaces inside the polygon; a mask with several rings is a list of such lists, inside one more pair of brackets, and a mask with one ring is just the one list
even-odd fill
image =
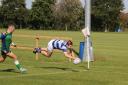
{"label": "green and navy jersey of the running player", "polygon": [[1,33],[0,39],[2,42],[1,51],[10,51],[10,44],[12,43],[12,33]]}

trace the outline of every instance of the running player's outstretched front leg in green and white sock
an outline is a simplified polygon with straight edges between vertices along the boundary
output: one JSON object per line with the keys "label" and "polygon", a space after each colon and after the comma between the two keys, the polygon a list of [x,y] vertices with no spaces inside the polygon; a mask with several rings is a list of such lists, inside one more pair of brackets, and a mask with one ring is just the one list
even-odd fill
{"label": "running player's outstretched front leg in green and white sock", "polygon": [[14,64],[16,65],[16,67],[21,71],[21,72],[26,72],[26,69],[23,68],[21,66],[21,64],[19,63],[18,59],[17,59],[17,56],[12,53],[12,52],[9,52],[7,53],[7,56],[9,56],[10,58],[12,58],[14,60]]}

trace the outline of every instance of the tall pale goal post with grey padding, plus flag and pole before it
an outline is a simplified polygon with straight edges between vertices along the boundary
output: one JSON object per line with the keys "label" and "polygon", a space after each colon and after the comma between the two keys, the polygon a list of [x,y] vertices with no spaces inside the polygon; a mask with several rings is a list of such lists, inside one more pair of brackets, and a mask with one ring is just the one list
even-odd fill
{"label": "tall pale goal post with grey padding, plus flag and pole before it", "polygon": [[[84,54],[83,61],[88,62],[88,69],[90,69],[90,61],[93,61],[93,50],[92,50],[92,41],[91,41],[91,0],[85,0],[85,28],[82,30],[84,35]],[[91,42],[90,42],[91,41]]]}

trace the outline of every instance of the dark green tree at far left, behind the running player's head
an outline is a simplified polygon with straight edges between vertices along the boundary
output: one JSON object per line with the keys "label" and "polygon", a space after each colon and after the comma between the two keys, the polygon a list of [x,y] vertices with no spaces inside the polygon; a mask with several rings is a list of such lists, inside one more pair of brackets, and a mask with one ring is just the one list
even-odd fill
{"label": "dark green tree at far left, behind the running player's head", "polygon": [[22,28],[25,23],[26,11],[25,0],[2,0],[1,16],[3,17],[3,24],[7,25],[12,22]]}

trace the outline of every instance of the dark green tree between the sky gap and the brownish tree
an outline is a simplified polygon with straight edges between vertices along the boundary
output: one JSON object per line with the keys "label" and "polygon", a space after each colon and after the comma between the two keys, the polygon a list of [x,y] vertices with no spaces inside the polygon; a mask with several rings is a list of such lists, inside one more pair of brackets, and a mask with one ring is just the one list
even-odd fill
{"label": "dark green tree between the sky gap and the brownish tree", "polygon": [[54,0],[35,0],[30,12],[30,23],[34,28],[42,29],[52,26],[51,7]]}

